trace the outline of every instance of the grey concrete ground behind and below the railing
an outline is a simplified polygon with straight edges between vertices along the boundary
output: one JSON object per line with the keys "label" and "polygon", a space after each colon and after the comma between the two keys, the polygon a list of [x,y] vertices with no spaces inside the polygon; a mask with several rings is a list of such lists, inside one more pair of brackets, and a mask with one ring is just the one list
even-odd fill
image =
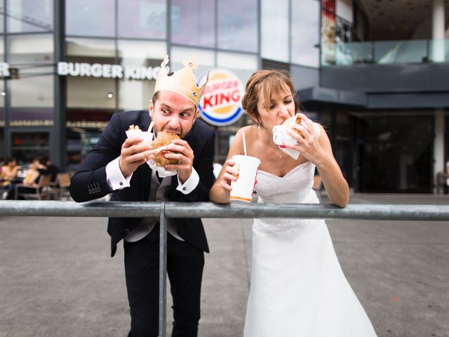
{"label": "grey concrete ground behind and below the railing", "polygon": [[[351,202],[448,204],[449,196],[354,194]],[[204,223],[211,253],[199,336],[241,336],[251,220]],[[328,220],[328,227],[378,336],[449,336],[448,222]],[[109,258],[104,218],[4,217],[0,238],[0,337],[126,336],[123,248]]]}

